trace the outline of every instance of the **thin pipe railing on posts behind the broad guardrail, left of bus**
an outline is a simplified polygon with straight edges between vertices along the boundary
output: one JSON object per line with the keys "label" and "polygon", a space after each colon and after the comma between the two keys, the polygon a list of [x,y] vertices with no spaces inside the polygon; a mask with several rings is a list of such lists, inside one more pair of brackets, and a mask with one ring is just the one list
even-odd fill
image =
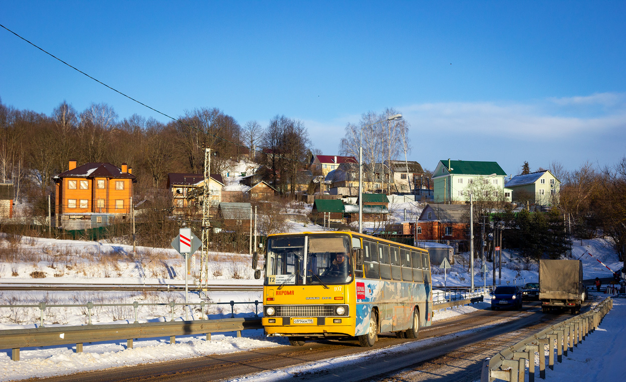
{"label": "thin pipe railing on posts behind the broad guardrail, left of bus", "polygon": [[[0,308],[19,308],[19,307],[33,307],[33,308],[39,308],[40,314],[39,314],[39,327],[43,328],[43,320],[44,320],[44,311],[46,309],[48,309],[49,307],[78,307],[78,308],[86,308],[87,309],[87,316],[88,316],[88,325],[91,325],[91,311],[93,310],[93,308],[95,307],[121,307],[121,306],[131,306],[135,309],[135,324],[138,323],[138,308],[140,306],[169,306],[170,309],[170,313],[172,314],[172,321],[174,321],[174,309],[177,306],[185,306],[185,309],[187,309],[188,306],[200,306],[200,316],[202,317],[202,319],[204,318],[204,307],[207,305],[230,305],[230,317],[234,318],[235,317],[235,304],[254,304],[254,316],[255,317],[259,317],[259,304],[263,305],[262,302],[259,302],[259,300],[255,300],[255,301],[239,301],[239,302],[235,302],[235,301],[229,301],[229,302],[205,302],[205,301],[201,301],[201,302],[137,302],[137,301],[133,301],[131,304],[94,304],[93,302],[87,302],[86,304],[46,304],[45,302],[39,302],[39,304],[14,304],[14,305],[0,305]],[[208,319],[208,316],[207,316]]]}

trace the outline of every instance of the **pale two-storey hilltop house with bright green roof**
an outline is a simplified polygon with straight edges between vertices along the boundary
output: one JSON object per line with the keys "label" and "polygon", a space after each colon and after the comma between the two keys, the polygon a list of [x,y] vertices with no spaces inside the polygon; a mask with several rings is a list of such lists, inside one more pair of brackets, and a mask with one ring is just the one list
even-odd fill
{"label": "pale two-storey hilltop house with bright green roof", "polygon": [[464,191],[476,178],[491,183],[498,195],[511,202],[511,190],[505,188],[506,173],[497,162],[449,159],[440,160],[434,170],[434,202],[468,202]]}

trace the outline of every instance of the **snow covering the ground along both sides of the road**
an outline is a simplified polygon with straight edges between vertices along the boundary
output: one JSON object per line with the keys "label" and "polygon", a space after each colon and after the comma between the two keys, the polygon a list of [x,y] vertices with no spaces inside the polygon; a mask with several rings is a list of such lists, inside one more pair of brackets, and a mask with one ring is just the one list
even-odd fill
{"label": "snow covering the ground along both sides of the road", "polygon": [[[321,227],[317,225],[307,225],[304,226],[304,223],[292,222],[292,227],[294,230],[319,230]],[[21,246],[30,248],[31,250],[48,250],[51,254],[56,253],[59,249],[64,247],[71,247],[76,249],[77,252],[88,252],[90,254],[108,254],[108,253],[121,253],[127,255],[131,252],[131,247],[128,245],[119,245],[119,244],[108,244],[106,242],[77,242],[73,240],[50,240],[50,239],[31,239],[25,238],[21,243]],[[141,249],[146,252],[150,252],[150,250],[155,249]],[[161,249],[158,249],[161,250]],[[59,283],[71,283],[76,282],[76,278],[90,278],[92,282],[108,282],[111,284],[141,284],[144,280],[147,282],[162,282],[165,284],[168,283],[176,283],[181,284],[183,282],[182,277],[182,263],[179,260],[178,254],[173,250],[164,250],[165,252],[173,252],[171,256],[166,256],[163,260],[167,267],[172,267],[173,274],[170,275],[174,277],[173,279],[168,279],[167,277],[155,277],[155,278],[146,278],[145,272],[141,269],[137,269],[134,263],[124,264],[123,259],[118,261],[118,267],[120,267],[121,274],[123,277],[115,277],[116,272],[113,272],[111,276],[113,277],[100,277],[98,279],[94,279],[93,275],[86,276],[84,274],[73,274],[73,272],[68,272],[60,277],[46,277],[46,282],[59,282]],[[610,245],[605,240],[595,239],[595,240],[583,240],[582,245],[580,241],[574,243],[573,247],[573,258],[576,259],[582,256],[581,260],[583,261],[584,266],[584,275],[586,279],[593,277],[607,277],[610,276],[610,272],[608,272],[601,264],[599,264],[595,259],[585,254],[585,252],[591,252],[593,256],[596,256],[598,259],[605,262],[613,269],[618,269],[617,255],[610,248]],[[260,284],[260,281],[252,279],[249,277],[248,279],[229,279],[231,276],[228,270],[229,267],[233,267],[233,254],[222,254],[215,253],[213,254],[213,259],[215,259],[215,263],[222,264],[221,268],[225,274],[222,276],[215,277],[211,281],[213,284]],[[240,256],[242,266],[248,267],[249,258],[247,255],[237,255]],[[503,278],[502,283],[506,284],[506,282],[510,282],[510,284],[523,284],[524,282],[536,281],[536,266],[535,270],[520,270],[517,271],[515,269],[509,269],[507,266],[513,266],[516,268],[520,268],[515,262],[515,254],[504,252],[505,256],[505,268],[503,268]],[[123,256],[122,256],[123,257]],[[487,284],[491,283],[491,266],[490,271],[487,275]],[[19,277],[11,276],[12,268],[17,267],[16,271],[21,275]],[[28,276],[24,276],[28,274],[28,271],[32,271],[33,267],[46,267],[46,264],[2,264],[0,263],[0,277],[2,277],[1,282],[9,282],[9,281],[21,281],[21,282],[33,282],[34,280],[29,278]],[[165,266],[163,266],[165,267]],[[477,267],[480,267],[480,262],[477,264]],[[91,266],[93,268],[93,264]],[[532,268],[532,267],[530,267]],[[3,271],[4,269],[4,271]],[[47,271],[47,269],[46,269]],[[90,269],[89,271],[94,271]],[[52,271],[54,272],[54,270]],[[433,284],[443,285],[444,284],[444,275],[443,272],[440,272],[436,267],[433,267]],[[496,275],[497,276],[497,275]],[[40,281],[39,279],[36,281]],[[463,267],[455,264],[453,269],[449,270],[446,274],[446,284],[448,286],[468,286],[469,285],[469,273]],[[475,285],[482,286],[483,285],[483,277],[480,273],[477,272],[475,277]],[[87,292],[85,292],[87,293]],[[74,297],[71,297],[74,295]],[[240,292],[222,292],[220,294],[213,293],[211,294],[213,301],[254,301],[255,299],[260,299],[260,294],[254,294],[250,292],[246,292],[244,294]],[[78,296],[76,294],[58,294],[54,296],[56,299],[56,303],[63,303],[63,301],[71,301],[72,298],[79,300],[82,299],[95,299],[95,295],[86,296]],[[45,294],[43,292],[30,292],[28,294],[16,295],[13,293],[4,292],[0,294],[0,304],[8,304],[10,301],[13,303],[17,303],[16,301],[22,301],[24,299],[28,301],[36,302],[40,299],[51,297],[49,294]],[[116,296],[117,299],[126,299],[131,302],[132,299],[139,299],[141,296],[131,294],[128,292],[127,295],[119,295]],[[153,297],[155,300],[158,300],[157,297]],[[182,292],[170,292],[166,297],[163,297],[163,301],[168,301],[172,299],[177,299],[178,301],[183,301],[184,297],[182,296]],[[195,294],[190,294],[190,301],[199,302],[200,299]],[[80,302],[69,302],[69,303],[84,303]],[[478,304],[474,304],[472,306],[464,306],[454,309],[446,309],[444,311],[438,311],[434,315],[434,321],[439,321],[442,319],[447,319],[449,317],[456,316],[458,314],[466,314],[471,311],[476,311],[476,309],[489,309],[490,302],[481,302]],[[36,310],[36,309],[33,309]],[[151,314],[151,316],[150,316]],[[197,313],[193,313],[196,314]],[[254,303],[248,304],[247,306],[242,307],[239,311],[235,311],[235,316],[252,316],[254,315]],[[7,317],[6,314],[3,314],[4,317]],[[84,324],[85,315],[84,314],[68,314],[67,312],[58,312],[58,316],[66,317],[66,324]],[[67,318],[69,316],[69,318]],[[182,319],[184,316],[182,311],[177,312],[177,319]],[[223,309],[220,311],[217,309],[212,311],[211,318],[221,318],[221,317],[229,317],[230,316],[230,306],[223,306]],[[142,317],[142,314],[140,314]],[[143,314],[143,318],[140,318],[140,322],[150,322],[150,321],[163,321],[163,319],[167,317],[170,319],[170,315],[167,312],[148,312],[145,311]],[[548,371],[548,379],[554,381],[565,381],[565,378],[571,378],[570,366],[573,368],[580,368],[579,376],[584,376],[583,380],[593,381],[597,380],[601,377],[607,377],[616,374],[617,365],[622,365],[624,361],[624,352],[622,348],[620,348],[620,344],[623,344],[626,340],[626,331],[619,325],[620,322],[626,317],[626,302],[615,299],[614,309],[609,313],[605,321],[603,321],[602,327],[597,333],[592,334],[587,341],[583,341],[583,344],[579,346],[573,353],[568,354],[567,359],[565,360],[565,364],[557,365],[555,371]],[[34,312],[34,314],[30,317],[26,317],[27,323],[22,323],[19,325],[3,322],[3,326],[0,329],[6,328],[33,328],[34,323],[38,322],[38,312]],[[110,323],[113,322],[111,316],[103,313],[103,316],[100,319],[100,323]],[[116,321],[118,323],[124,323],[128,321]],[[473,330],[480,330],[473,329]],[[603,332],[605,331],[605,332]],[[601,337],[602,336],[602,337]],[[602,338],[602,340],[596,338]],[[414,341],[411,343],[406,343],[399,346],[408,346],[409,348],[419,348],[421,346],[427,346],[429,344],[428,341],[445,341],[447,337],[437,338],[437,339],[428,339],[426,341]],[[204,356],[207,354],[222,354],[222,353],[230,353],[235,351],[245,351],[247,349],[255,349],[255,348],[265,348],[268,346],[283,346],[287,345],[287,341],[285,339],[280,338],[266,338],[262,331],[244,331],[242,338],[237,338],[235,333],[222,333],[215,334],[212,336],[211,341],[205,341],[204,336],[182,336],[177,338],[177,344],[170,345],[169,338],[155,338],[155,339],[140,339],[135,341],[133,349],[126,349],[125,341],[108,341],[106,343],[96,343],[96,344],[85,344],[83,348],[83,353],[74,353],[75,346],[50,346],[46,348],[25,348],[21,350],[21,361],[14,362],[11,361],[11,351],[3,351],[0,353],[0,381],[9,381],[13,379],[24,379],[31,377],[44,377],[44,376],[54,376],[54,375],[62,375],[69,373],[76,373],[79,371],[88,371],[95,369],[106,369],[111,367],[118,366],[131,366],[133,364],[140,363],[154,363],[160,361],[167,361],[170,359],[180,359],[180,358],[190,358],[196,356]],[[163,346],[167,346],[167,351],[164,351]],[[381,349],[379,351],[387,351],[388,349]],[[372,351],[367,353],[367,356],[374,356],[377,351]],[[584,353],[583,353],[584,352]],[[580,358],[576,358],[579,354]],[[584,355],[587,354],[587,355]],[[616,355],[617,354],[617,355]],[[361,358],[361,355],[358,356]],[[263,375],[255,376],[254,380],[272,380],[273,378],[277,378],[278,376],[286,375],[286,374],[294,374],[301,373],[302,371],[312,371],[317,368],[323,368],[324,365],[331,363],[345,363],[348,366],[352,359],[355,359],[356,356],[347,356],[344,358],[333,359],[332,361],[322,361],[321,363],[312,363],[305,364],[302,366],[297,366],[289,369],[282,369],[280,371],[272,371],[269,373],[265,373]],[[613,361],[615,358],[615,361]],[[583,373],[583,368],[585,370],[592,370],[592,373],[587,373],[588,376],[585,376]],[[566,373],[565,370],[568,370]],[[551,376],[552,373],[552,376]],[[558,373],[563,373],[558,374]],[[560,379],[559,379],[560,378]]]}

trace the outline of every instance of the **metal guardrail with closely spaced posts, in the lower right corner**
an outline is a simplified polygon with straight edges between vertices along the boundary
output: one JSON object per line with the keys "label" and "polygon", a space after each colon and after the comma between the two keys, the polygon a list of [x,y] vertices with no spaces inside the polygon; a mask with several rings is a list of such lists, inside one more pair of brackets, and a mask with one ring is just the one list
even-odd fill
{"label": "metal guardrail with closely spaced posts, in the lower right corner", "polygon": [[555,350],[557,361],[563,361],[563,354],[567,356],[568,349],[582,341],[587,334],[595,331],[604,316],[613,307],[613,300],[607,297],[591,311],[578,314],[570,319],[543,329],[500,353],[483,361],[481,382],[491,382],[503,379],[510,382],[523,382],[526,373],[526,359],[528,359],[528,380],[535,381],[535,353],[539,357],[539,376],[545,379],[545,346],[548,345],[548,367],[554,369]]}

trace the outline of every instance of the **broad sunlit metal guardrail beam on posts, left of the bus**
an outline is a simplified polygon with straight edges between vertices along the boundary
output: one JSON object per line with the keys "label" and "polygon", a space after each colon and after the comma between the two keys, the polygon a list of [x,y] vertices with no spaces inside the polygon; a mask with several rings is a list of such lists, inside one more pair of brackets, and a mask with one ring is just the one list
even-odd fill
{"label": "broad sunlit metal guardrail beam on posts, left of the bus", "polygon": [[76,353],[83,351],[83,343],[115,341],[126,339],[127,348],[133,348],[135,338],[155,338],[170,336],[170,343],[176,343],[176,336],[237,331],[241,337],[244,329],[262,329],[260,318],[226,318],[215,320],[168,321],[165,323],[104,324],[83,326],[56,326],[53,328],[0,330],[0,349],[12,349],[11,359],[19,361],[19,349],[31,346],[54,346],[76,344]]}

